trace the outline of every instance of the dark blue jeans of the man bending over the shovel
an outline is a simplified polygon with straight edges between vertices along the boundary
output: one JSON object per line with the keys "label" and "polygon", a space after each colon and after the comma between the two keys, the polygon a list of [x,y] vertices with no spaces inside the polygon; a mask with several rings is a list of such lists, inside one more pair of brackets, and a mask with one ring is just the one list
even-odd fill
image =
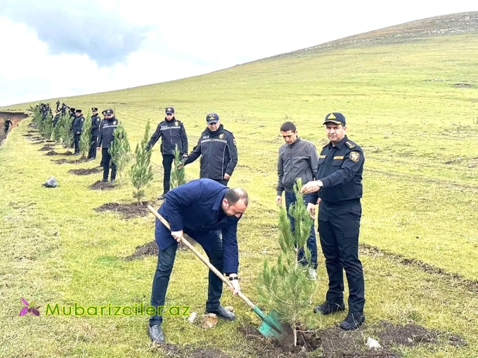
{"label": "dark blue jeans of the man bending over the shovel", "polygon": [[[191,237],[193,237],[193,239],[196,239],[203,235],[214,241],[214,245],[212,246],[211,250],[206,251],[206,254],[209,258],[209,262],[212,263],[212,265],[216,267],[219,272],[222,272],[224,254],[222,249],[221,231],[213,231],[201,235],[192,234]],[[157,267],[155,272],[155,278],[153,279],[153,289],[151,292],[151,306],[156,307],[156,312],[158,306],[164,306],[167,286],[169,284],[169,277],[171,276],[171,272],[173,270],[174,258],[176,258],[177,248],[178,244],[177,242],[175,242],[171,246],[168,246],[165,250],[160,250],[157,256]],[[185,287],[184,289],[185,291],[188,290],[187,287]],[[219,277],[216,276],[216,274],[214,274],[214,272],[209,270],[209,287],[207,290],[206,302],[207,311],[215,310],[217,307],[219,307],[219,299],[221,298],[221,295],[222,281],[221,279],[219,279]],[[155,314],[150,318],[149,324],[150,326],[154,326],[155,324],[162,324],[162,316],[158,316],[157,314]]]}

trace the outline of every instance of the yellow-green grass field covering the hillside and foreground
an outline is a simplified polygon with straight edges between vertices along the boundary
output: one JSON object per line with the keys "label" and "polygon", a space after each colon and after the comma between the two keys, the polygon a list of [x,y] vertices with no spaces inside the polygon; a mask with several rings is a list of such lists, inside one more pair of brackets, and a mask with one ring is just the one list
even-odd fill
{"label": "yellow-green grass field covering the hillside and foreground", "polygon": [[[241,287],[253,301],[264,257],[275,258],[279,250],[274,197],[276,157],[283,143],[280,124],[294,121],[299,136],[320,149],[326,143],[323,117],[344,113],[349,138],[366,155],[361,242],[455,275],[425,272],[420,265],[403,265],[393,256],[363,250],[367,323],[360,334],[364,340],[373,336],[381,320],[419,324],[458,334],[467,345],[440,341],[394,347],[401,357],[478,357],[477,52],[476,32],[369,41],[61,101],[84,110],[115,108],[131,147],[148,119],[155,128],[167,105],[176,107],[190,148],[205,128],[205,114],[219,114],[238,142],[239,163],[230,185],[250,194],[239,244]],[[56,99],[48,102],[53,105]],[[0,110],[25,110],[28,105]],[[22,121],[0,147],[0,356],[164,356],[150,343],[146,317],[18,317],[20,297],[34,300],[40,312],[47,303],[147,305],[157,260],[124,260],[153,239],[152,215],[124,220],[120,214],[93,211],[108,202],[133,201],[127,174],[115,190],[89,190],[100,174],[67,171],[93,164],[54,164],[50,159],[63,157],[45,157],[38,151],[41,145],[23,136],[31,129],[29,123]],[[155,147],[157,175],[146,191],[153,206],[162,192],[160,158]],[[188,180],[198,173],[198,163],[186,166]],[[41,187],[51,175],[59,186]],[[327,286],[320,252],[319,259],[316,304]],[[192,253],[181,251],[167,304],[202,313],[206,293],[206,268]],[[235,307],[238,320],[233,324],[220,322],[203,330],[181,317],[167,317],[167,341],[218,349],[231,357],[257,356],[238,329],[257,326],[259,319],[226,290],[222,303]],[[311,313],[309,327],[324,329],[344,316]]]}

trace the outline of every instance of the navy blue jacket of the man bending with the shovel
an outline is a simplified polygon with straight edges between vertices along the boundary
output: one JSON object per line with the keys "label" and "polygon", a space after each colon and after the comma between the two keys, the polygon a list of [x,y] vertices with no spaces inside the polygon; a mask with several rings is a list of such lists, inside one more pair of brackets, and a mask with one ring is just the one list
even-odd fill
{"label": "navy blue jacket of the man bending with the shovel", "polygon": [[223,272],[237,273],[239,266],[237,231],[240,218],[226,216],[221,208],[227,190],[224,185],[210,179],[191,180],[170,190],[159,213],[167,220],[171,230],[156,219],[157,246],[165,250],[176,241],[171,236],[171,231],[183,230],[209,251],[216,237],[208,233],[221,230],[224,250]]}

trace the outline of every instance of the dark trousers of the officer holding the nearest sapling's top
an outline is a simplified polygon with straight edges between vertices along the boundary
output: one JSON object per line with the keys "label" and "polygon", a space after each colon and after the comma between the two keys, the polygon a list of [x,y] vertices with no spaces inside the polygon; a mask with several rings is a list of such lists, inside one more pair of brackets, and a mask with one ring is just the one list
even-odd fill
{"label": "dark trousers of the officer holding the nearest sapling's top", "polygon": [[349,311],[363,312],[365,285],[359,260],[360,201],[331,204],[321,201],[318,212],[318,234],[321,238],[325,268],[329,277],[326,300],[344,300],[344,276],[349,284]]}

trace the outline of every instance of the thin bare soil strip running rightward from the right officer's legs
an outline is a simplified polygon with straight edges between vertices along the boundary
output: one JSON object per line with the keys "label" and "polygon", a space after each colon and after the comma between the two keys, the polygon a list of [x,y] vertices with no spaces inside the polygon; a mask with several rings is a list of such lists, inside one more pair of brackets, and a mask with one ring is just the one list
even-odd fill
{"label": "thin bare soil strip running rightward from the right officer's legs", "polygon": [[377,248],[375,246],[361,244],[360,251],[361,253],[367,256],[372,256],[372,257],[382,256],[385,258],[390,258],[398,263],[401,263],[402,265],[418,267],[423,272],[427,272],[429,274],[436,274],[444,279],[447,279],[448,281],[451,282],[452,285],[459,284],[460,286],[465,287],[465,289],[473,293],[478,293],[478,281],[467,279],[461,276],[460,274],[446,272],[445,270],[439,267],[434,267],[432,265],[429,265],[428,263],[424,263],[423,261],[415,260],[414,258],[406,258],[404,256],[399,255],[398,253],[389,253],[389,252],[381,251],[380,248]]}

